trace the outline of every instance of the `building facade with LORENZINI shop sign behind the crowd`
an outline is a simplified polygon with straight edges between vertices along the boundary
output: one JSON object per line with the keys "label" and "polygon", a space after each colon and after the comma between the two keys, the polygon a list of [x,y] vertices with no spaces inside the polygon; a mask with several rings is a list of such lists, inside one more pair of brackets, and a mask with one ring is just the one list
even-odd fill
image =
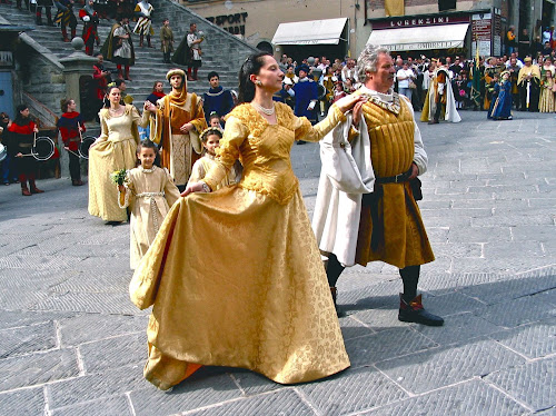
{"label": "building facade with LORENZINI shop sign behind the crowd", "polygon": [[[373,39],[390,39],[403,43],[410,34],[413,44],[398,49],[404,53],[480,55],[504,53],[504,38],[509,26],[516,32],[527,28],[533,36],[540,26],[554,24],[555,6],[552,0],[180,0],[182,4],[215,24],[241,37],[276,57],[282,52],[294,57],[327,55],[342,58],[357,56]],[[281,23],[315,22],[347,18],[336,42],[319,42],[300,24],[288,27],[292,38],[274,42]],[[467,26],[465,26],[467,24]],[[314,24],[315,26],[315,24]],[[317,24],[318,26],[318,24]],[[326,24],[325,24],[326,26]],[[413,28],[410,30],[406,30]],[[419,30],[419,28],[421,28]],[[423,29],[429,28],[429,29]],[[297,31],[300,32],[297,32]],[[388,30],[371,34],[374,31]],[[396,31],[400,30],[400,31]],[[439,42],[426,39],[433,31]],[[318,32],[318,30],[317,30]],[[457,32],[457,33],[454,33]],[[461,34],[461,32],[464,32]],[[453,34],[450,34],[453,33]],[[309,33],[310,34],[310,33]],[[318,38],[322,33],[315,33]],[[433,34],[429,33],[429,37]],[[420,39],[420,37],[424,37]],[[457,38],[457,39],[456,39]],[[284,41],[284,39],[280,39]],[[428,48],[428,49],[427,49]],[[328,50],[328,53],[324,52]]]}

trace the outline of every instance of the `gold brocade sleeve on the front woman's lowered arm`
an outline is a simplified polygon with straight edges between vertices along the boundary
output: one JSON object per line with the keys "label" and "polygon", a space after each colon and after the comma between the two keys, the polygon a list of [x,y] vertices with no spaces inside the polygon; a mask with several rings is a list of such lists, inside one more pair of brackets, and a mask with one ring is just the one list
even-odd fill
{"label": "gold brocade sleeve on the front woman's lowered arm", "polygon": [[202,179],[210,189],[215,190],[217,185],[228,175],[239,157],[239,147],[247,138],[247,127],[238,118],[234,116],[228,118],[220,147],[216,150],[215,165]]}

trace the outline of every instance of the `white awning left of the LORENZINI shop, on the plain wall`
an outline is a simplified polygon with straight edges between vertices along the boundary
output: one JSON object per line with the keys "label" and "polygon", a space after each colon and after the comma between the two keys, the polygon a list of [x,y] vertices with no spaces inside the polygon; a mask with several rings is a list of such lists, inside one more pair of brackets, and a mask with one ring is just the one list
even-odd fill
{"label": "white awning left of the LORENZINI shop, on the plain wall", "polygon": [[347,18],[280,23],[274,44],[338,44]]}

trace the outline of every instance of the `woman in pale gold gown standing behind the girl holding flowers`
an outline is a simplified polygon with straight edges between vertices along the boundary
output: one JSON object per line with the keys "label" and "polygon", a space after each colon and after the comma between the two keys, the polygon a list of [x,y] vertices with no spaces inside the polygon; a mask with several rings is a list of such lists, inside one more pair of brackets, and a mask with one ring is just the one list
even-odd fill
{"label": "woman in pale gold gown standing behind the girl holding flowers", "polygon": [[141,118],[133,106],[120,105],[119,88],[111,87],[107,93],[109,107],[99,112],[100,136],[89,149],[89,214],[121,222],[128,215],[118,205],[118,189],[110,174],[136,167],[137,126],[147,127],[149,119],[145,113]]}

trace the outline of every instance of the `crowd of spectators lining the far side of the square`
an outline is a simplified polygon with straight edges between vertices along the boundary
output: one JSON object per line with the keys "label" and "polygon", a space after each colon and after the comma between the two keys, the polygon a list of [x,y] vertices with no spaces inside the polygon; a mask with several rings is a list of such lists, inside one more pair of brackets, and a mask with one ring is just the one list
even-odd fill
{"label": "crowd of spectators lining the far side of the square", "polygon": [[[513,30],[513,29],[510,29]],[[520,39],[519,41],[517,39]],[[539,78],[534,80],[543,92],[546,93],[547,102],[555,98],[554,61],[556,53],[556,33],[554,28],[545,28],[543,32],[543,48],[539,42],[526,41],[525,36],[516,37],[515,44],[507,48],[508,53],[502,57],[479,57],[466,59],[463,56],[427,57],[425,55],[393,57],[395,61],[396,80],[395,91],[406,96],[416,111],[420,111],[435,70],[441,65],[448,69],[451,89],[456,99],[456,107],[463,110],[488,110],[495,91],[495,83],[500,81],[500,75],[509,71],[512,81],[512,93],[514,108],[525,111],[553,112],[554,106],[527,106],[523,103],[523,93],[519,93],[519,70],[524,66],[538,67]],[[525,50],[525,53],[520,52]],[[526,59],[527,58],[527,59]],[[526,63],[529,62],[530,63]],[[355,91],[360,81],[355,67],[355,59],[328,59],[328,57],[309,57],[297,62],[284,53],[279,65],[285,72],[284,90],[277,99],[289,103],[295,108],[295,96],[286,93],[299,81],[299,68],[307,67],[308,77],[319,85],[318,100],[320,101],[320,115],[326,113],[329,106],[337,99]],[[475,82],[474,82],[475,78]],[[538,81],[538,82],[537,82]],[[542,101],[542,100],[540,100]]]}

